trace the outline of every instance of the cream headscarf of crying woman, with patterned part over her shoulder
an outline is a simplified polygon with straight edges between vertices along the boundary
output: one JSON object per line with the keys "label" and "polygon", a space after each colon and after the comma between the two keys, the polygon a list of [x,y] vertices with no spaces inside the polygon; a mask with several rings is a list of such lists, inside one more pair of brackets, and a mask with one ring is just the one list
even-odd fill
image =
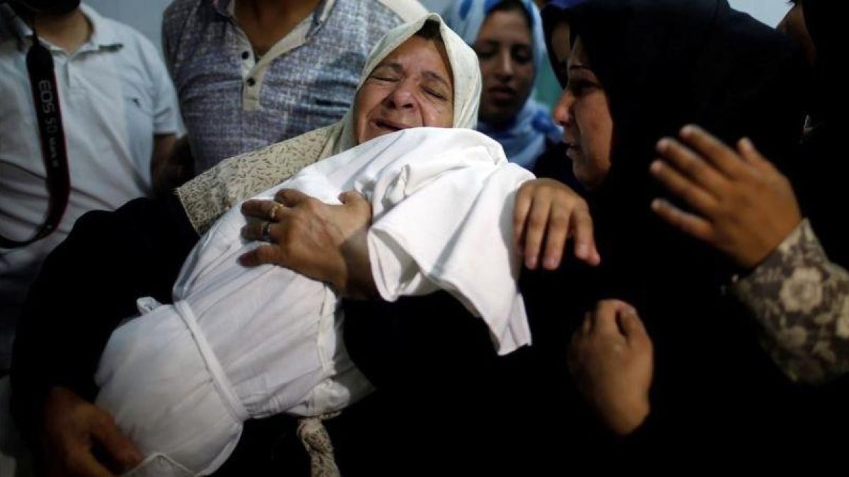
{"label": "cream headscarf of crying woman, with patterned part over her shoulder", "polygon": [[[372,70],[421,30],[428,20],[439,23],[440,36],[453,71],[453,127],[474,129],[481,98],[481,67],[475,51],[438,14],[426,14],[419,20],[387,32],[368,55],[357,91],[363,87]],[[239,201],[283,182],[305,166],[357,145],[354,138],[355,114],[351,107],[341,121],[331,126],[223,160],[178,188],[177,197],[194,229],[204,233],[212,222]]]}

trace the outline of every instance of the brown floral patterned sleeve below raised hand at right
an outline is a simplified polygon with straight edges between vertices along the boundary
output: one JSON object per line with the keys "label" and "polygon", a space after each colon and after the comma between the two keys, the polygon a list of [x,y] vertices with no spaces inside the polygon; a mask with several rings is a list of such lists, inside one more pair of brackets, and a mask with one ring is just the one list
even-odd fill
{"label": "brown floral patterned sleeve below raised hand at right", "polygon": [[821,383],[849,372],[849,272],[829,261],[807,220],[732,290],[790,379]]}

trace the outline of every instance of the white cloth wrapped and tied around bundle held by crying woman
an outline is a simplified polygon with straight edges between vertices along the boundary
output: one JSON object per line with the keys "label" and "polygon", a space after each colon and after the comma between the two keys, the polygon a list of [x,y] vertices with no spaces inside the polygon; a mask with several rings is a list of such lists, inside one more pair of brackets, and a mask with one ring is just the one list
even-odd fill
{"label": "white cloth wrapped and tied around bundle held by crying woman", "polygon": [[[530,172],[481,133],[416,128],[378,137],[261,194],[297,188],[329,203],[351,188],[373,207],[368,250],[386,300],[447,289],[492,332],[499,353],[530,343],[512,251],[514,193]],[[256,247],[234,207],[195,246],[159,306],[115,330],[99,364],[98,406],[144,454],[209,474],[242,422],[339,410],[371,389],[341,341],[323,283],[282,267],[241,267]],[[450,333],[450,330],[446,330]]]}

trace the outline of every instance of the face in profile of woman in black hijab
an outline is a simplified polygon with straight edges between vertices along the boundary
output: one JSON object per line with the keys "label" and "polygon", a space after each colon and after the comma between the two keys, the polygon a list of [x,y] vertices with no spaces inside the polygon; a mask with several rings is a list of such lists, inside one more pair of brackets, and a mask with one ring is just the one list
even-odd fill
{"label": "face in profile of woman in black hijab", "polygon": [[610,171],[613,118],[607,93],[590,69],[581,38],[569,51],[569,27],[558,25],[552,36],[555,70],[568,77],[554,105],[554,121],[563,126],[566,156],[572,160],[575,177],[588,189],[598,188]]}

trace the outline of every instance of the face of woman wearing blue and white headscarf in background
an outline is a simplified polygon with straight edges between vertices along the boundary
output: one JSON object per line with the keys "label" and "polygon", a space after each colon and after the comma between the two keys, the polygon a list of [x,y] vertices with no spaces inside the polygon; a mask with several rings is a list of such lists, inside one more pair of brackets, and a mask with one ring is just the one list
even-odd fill
{"label": "face of woman wearing blue and white headscarf in background", "polygon": [[492,12],[474,48],[483,78],[478,117],[489,124],[503,124],[519,113],[533,85],[533,42],[525,14]]}

